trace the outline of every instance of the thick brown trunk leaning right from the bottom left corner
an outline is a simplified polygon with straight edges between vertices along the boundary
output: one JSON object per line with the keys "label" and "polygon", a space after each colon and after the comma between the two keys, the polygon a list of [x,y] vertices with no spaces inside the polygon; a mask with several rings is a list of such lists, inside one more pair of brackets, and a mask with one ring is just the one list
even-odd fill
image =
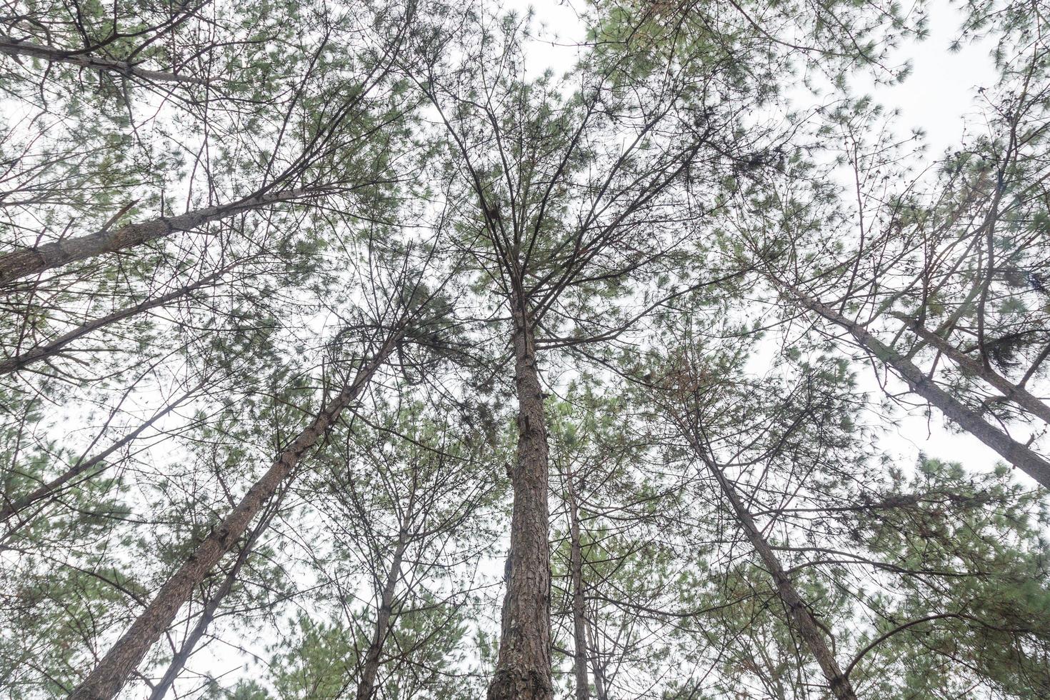
{"label": "thick brown trunk leaning right from the bottom left corner", "polygon": [[310,427],[300,432],[291,447],[248,490],[240,503],[204,538],[182,567],[161,588],[131,628],[113,644],[91,674],[69,697],[71,700],[109,700],[127,682],[149,648],[171,624],[178,609],[201,585],[209,571],[230,551],[267,501],[291,475],[303,453],[323,438],[342,410],[353,403],[379,366],[393,352],[400,333],[388,336],[375,356],[364,362],[354,380],[326,405]]}

